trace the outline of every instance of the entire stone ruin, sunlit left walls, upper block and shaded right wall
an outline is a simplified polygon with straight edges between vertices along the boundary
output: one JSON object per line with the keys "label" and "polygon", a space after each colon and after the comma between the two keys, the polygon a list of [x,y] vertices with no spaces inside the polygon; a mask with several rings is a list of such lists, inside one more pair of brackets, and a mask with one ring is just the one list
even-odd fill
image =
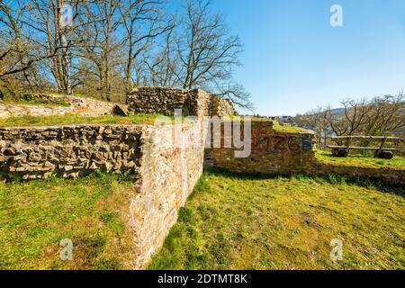
{"label": "entire stone ruin, sunlit left walls, upper block and shaded right wall", "polygon": [[[145,97],[151,102],[145,102]],[[311,131],[281,132],[273,128],[271,121],[251,122],[251,152],[247,157],[236,157],[240,149],[232,143],[232,133],[224,132],[224,123],[219,132],[211,129],[211,139],[220,139],[220,147],[208,147],[202,116],[228,115],[233,106],[202,90],[138,88],[129,103],[131,112],[171,115],[175,108],[182,108],[184,114],[199,116],[199,121],[155,126],[0,128],[0,178],[77,177],[93,170],[132,176],[138,190],[130,198],[129,215],[136,268],[144,267],[163,244],[202,174],[204,163],[238,173],[374,175],[404,183],[403,171],[322,165],[315,157],[315,136]],[[244,122],[239,130],[242,138],[248,136],[243,135]],[[224,147],[225,142],[230,142],[232,148]]]}

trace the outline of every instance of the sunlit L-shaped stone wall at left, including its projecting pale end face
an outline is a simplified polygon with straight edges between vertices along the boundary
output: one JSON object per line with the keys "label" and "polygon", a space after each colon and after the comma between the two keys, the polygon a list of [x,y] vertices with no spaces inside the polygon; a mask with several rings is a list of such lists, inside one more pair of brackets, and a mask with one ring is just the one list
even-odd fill
{"label": "sunlit L-shaped stone wall at left, including its projecting pale end face", "polygon": [[94,170],[128,174],[134,263],[160,247],[202,174],[202,121],[166,125],[0,128],[0,178],[77,177]]}

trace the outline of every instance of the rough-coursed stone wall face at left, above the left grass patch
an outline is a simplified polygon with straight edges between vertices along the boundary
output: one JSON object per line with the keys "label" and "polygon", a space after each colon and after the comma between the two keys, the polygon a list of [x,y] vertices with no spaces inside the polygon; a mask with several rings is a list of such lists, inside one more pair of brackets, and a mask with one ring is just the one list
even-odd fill
{"label": "rough-coursed stone wall face at left, above the left grass patch", "polygon": [[77,177],[94,170],[136,177],[140,136],[138,126],[0,128],[0,178]]}

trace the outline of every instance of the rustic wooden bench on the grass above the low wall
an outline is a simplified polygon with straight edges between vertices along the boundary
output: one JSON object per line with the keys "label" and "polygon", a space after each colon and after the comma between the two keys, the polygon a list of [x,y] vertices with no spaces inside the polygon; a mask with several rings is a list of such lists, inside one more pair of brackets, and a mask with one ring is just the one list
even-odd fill
{"label": "rustic wooden bench on the grass above the low wall", "polygon": [[[337,136],[331,138],[333,141],[343,142],[346,141],[346,145],[328,145],[327,148],[332,150],[332,154],[338,157],[347,157],[350,150],[374,150],[374,157],[381,157],[385,159],[391,159],[393,157],[393,151],[398,151],[398,148],[386,148],[384,147],[387,141],[396,143],[398,146],[401,141],[398,137],[386,137],[386,136]],[[365,147],[365,146],[352,146],[351,143],[354,140],[366,140],[368,142],[381,142],[379,147]]]}

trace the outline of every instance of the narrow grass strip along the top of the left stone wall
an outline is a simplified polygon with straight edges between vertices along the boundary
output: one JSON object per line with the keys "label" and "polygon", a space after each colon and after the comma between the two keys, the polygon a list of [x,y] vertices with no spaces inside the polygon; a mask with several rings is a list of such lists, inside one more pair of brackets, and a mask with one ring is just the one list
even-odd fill
{"label": "narrow grass strip along the top of the left stone wall", "polygon": [[57,126],[75,124],[153,124],[156,117],[157,114],[144,113],[139,113],[128,117],[112,115],[87,117],[79,114],[42,117],[24,116],[0,119],[0,127]]}

